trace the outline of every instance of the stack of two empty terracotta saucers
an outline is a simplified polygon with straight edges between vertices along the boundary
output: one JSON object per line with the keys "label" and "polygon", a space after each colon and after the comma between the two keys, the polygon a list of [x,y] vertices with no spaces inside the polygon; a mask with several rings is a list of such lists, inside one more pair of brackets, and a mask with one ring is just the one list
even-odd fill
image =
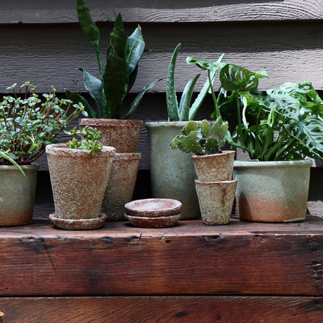
{"label": "stack of two empty terracotta saucers", "polygon": [[125,204],[125,217],[140,228],[168,228],[180,220],[182,204],[176,199],[137,199]]}

